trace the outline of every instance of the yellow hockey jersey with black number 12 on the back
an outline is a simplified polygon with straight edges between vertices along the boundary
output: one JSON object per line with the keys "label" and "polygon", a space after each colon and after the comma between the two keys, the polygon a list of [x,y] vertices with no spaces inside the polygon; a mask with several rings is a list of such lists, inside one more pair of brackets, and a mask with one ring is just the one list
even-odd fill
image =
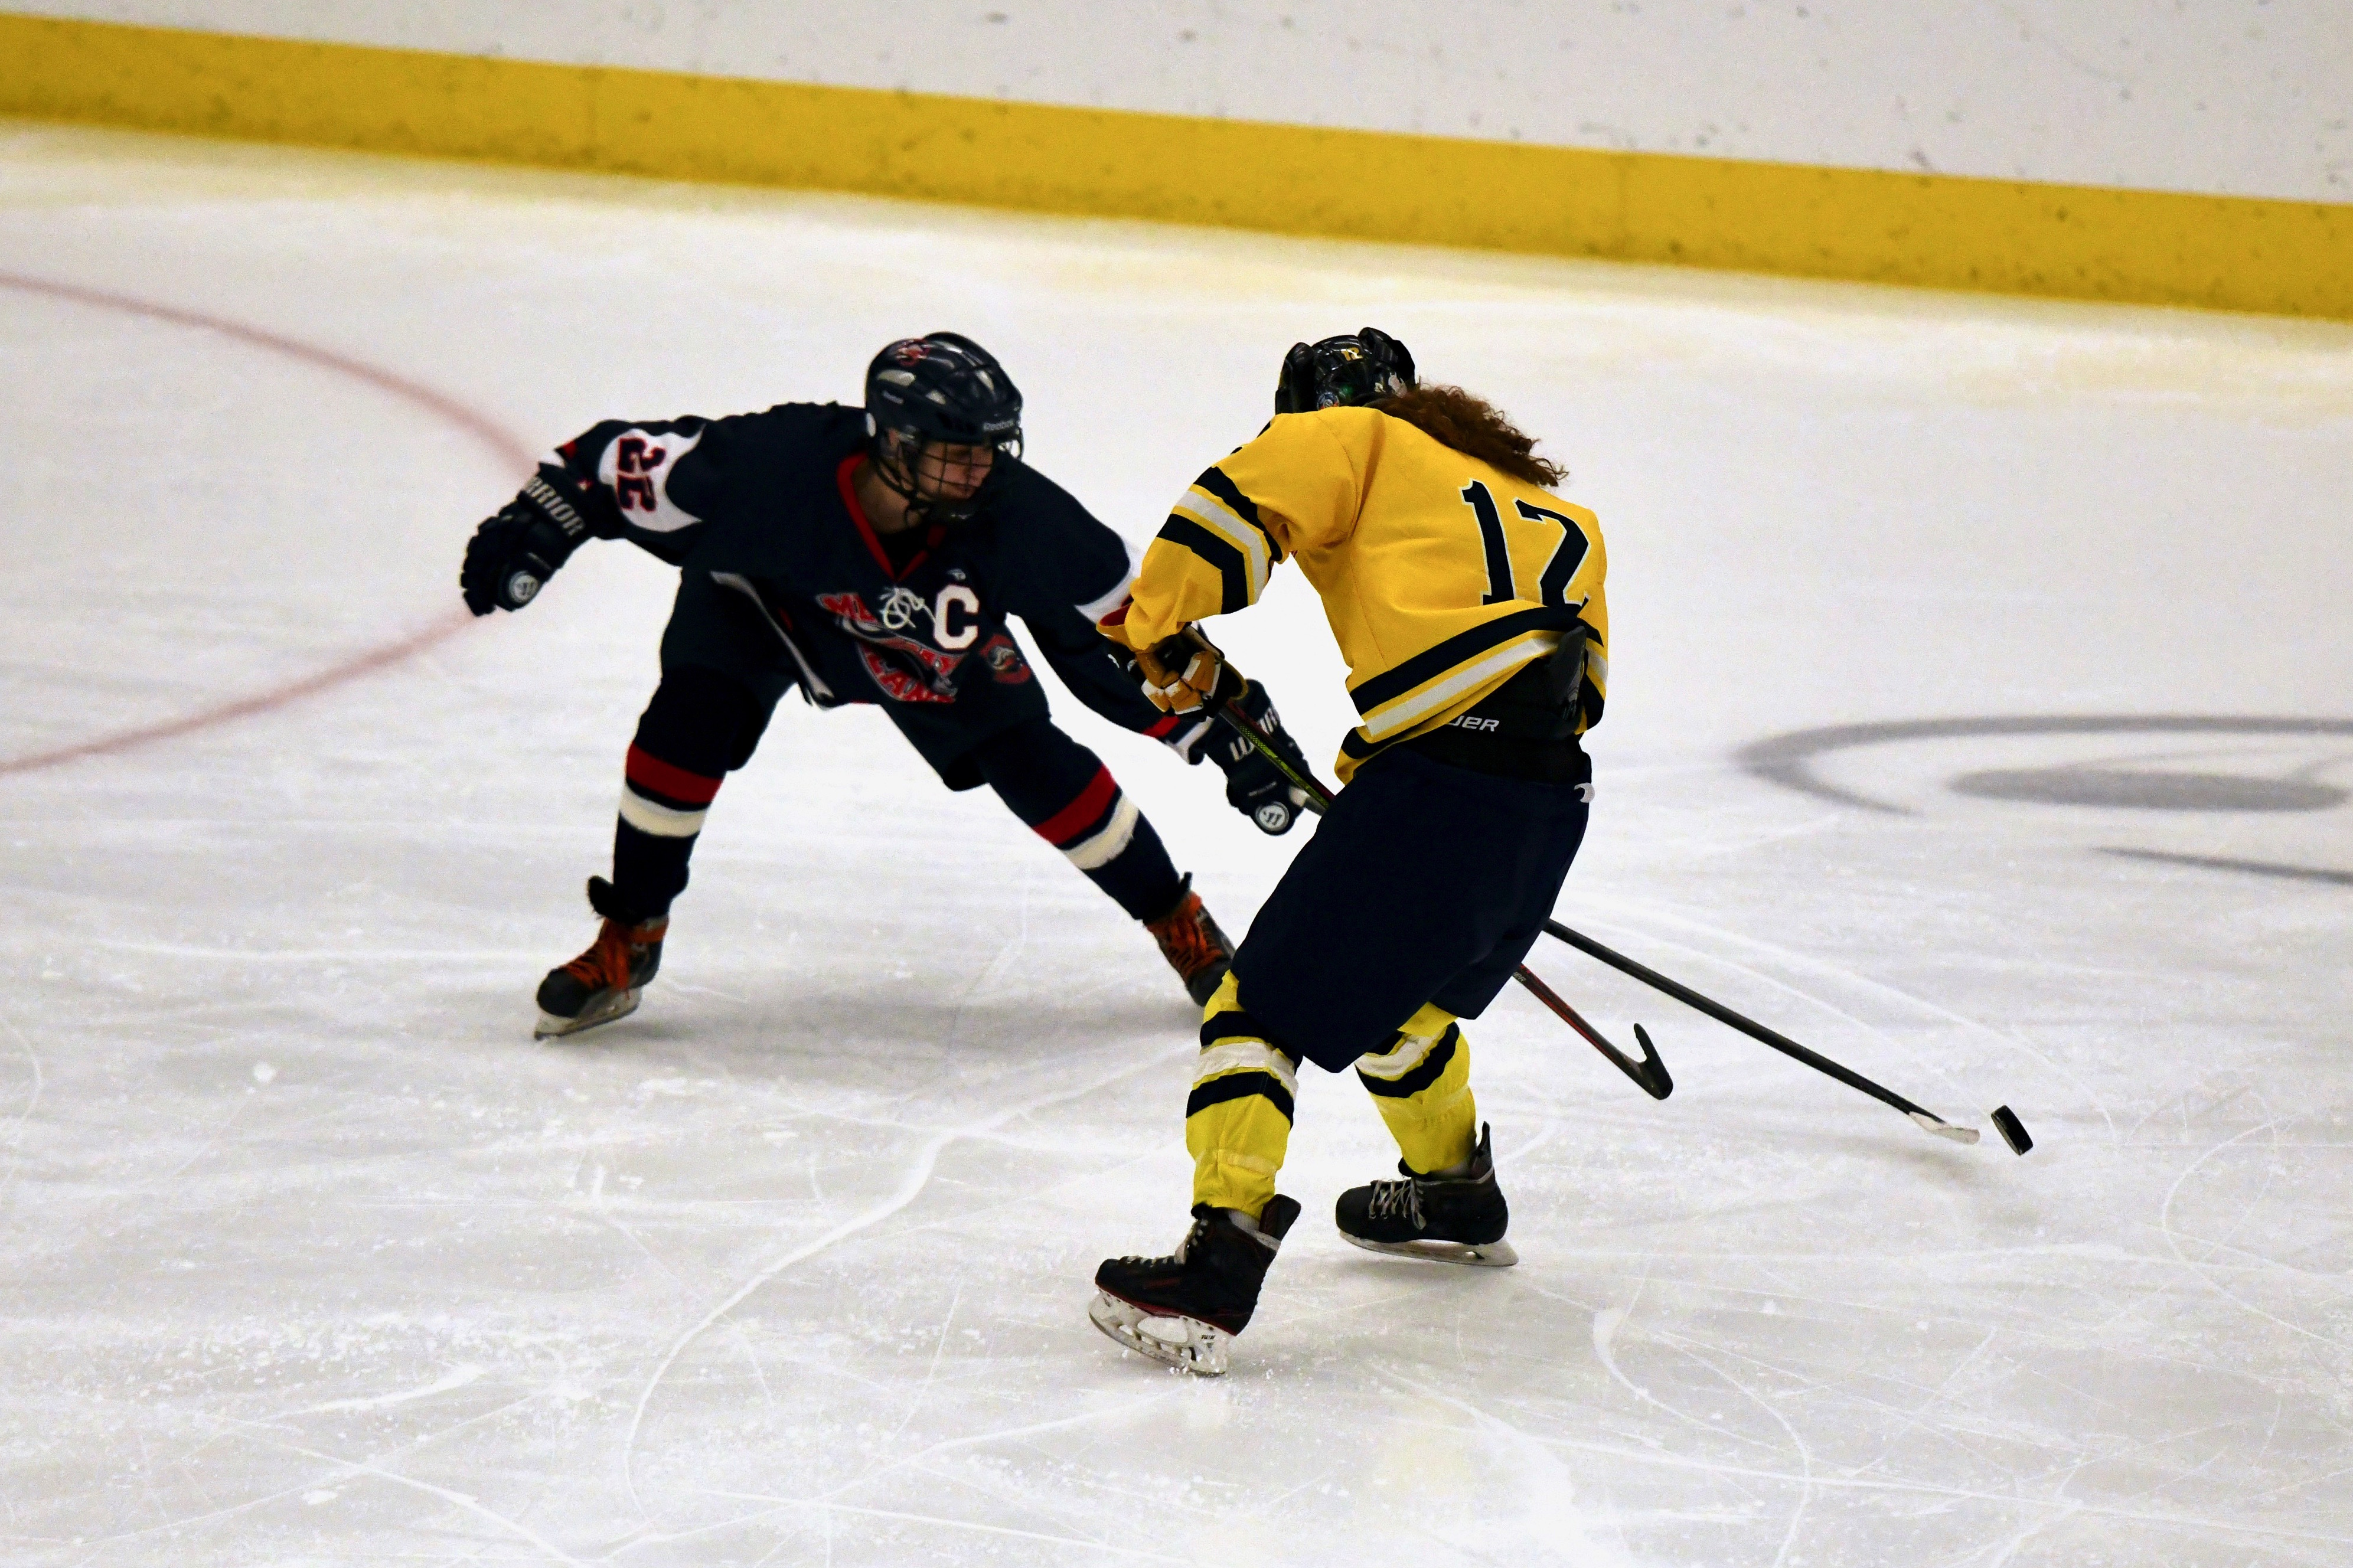
{"label": "yellow hockey jersey with black number 12 on the back", "polygon": [[1588,626],[1579,732],[1609,690],[1602,530],[1591,511],[1369,407],[1278,414],[1202,473],[1101,629],[1153,647],[1259,600],[1285,556],[1325,603],[1362,716],[1339,777],[1461,716]]}

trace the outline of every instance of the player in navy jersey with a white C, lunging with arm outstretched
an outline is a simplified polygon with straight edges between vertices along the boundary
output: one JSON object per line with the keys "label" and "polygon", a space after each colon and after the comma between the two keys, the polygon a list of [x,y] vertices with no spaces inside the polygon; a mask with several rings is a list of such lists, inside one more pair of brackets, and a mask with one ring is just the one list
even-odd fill
{"label": "player in navy jersey with a white C, lunging with arm outstretched", "polygon": [[[1005,617],[1089,709],[1212,758],[1264,831],[1287,831],[1299,800],[1231,732],[1146,702],[1096,636],[1127,596],[1127,546],[1021,461],[1021,393],[986,348],[955,332],[889,344],[864,410],[598,424],[475,532],[466,607],[520,610],[588,539],[638,544],[680,586],[624,768],[612,881],[588,881],[605,923],[541,982],[541,1036],[635,1010],[720,782],[793,687],[821,709],[878,704],[948,789],[995,789],[1151,930],[1195,1003],[1224,979],[1226,935],[1111,770],[1047,716]],[[1273,720],[1264,692],[1252,704]]]}

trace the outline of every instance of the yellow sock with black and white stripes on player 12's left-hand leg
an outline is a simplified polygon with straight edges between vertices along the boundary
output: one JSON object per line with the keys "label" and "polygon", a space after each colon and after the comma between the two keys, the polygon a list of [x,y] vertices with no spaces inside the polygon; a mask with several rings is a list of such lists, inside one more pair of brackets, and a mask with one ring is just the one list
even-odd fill
{"label": "yellow sock with black and white stripes on player 12's left-hand leg", "polygon": [[1275,1196],[1275,1172],[1292,1142],[1297,1071],[1299,1057],[1266,1038],[1226,975],[1202,1008],[1200,1059],[1184,1107],[1195,1203],[1238,1208],[1257,1220]]}

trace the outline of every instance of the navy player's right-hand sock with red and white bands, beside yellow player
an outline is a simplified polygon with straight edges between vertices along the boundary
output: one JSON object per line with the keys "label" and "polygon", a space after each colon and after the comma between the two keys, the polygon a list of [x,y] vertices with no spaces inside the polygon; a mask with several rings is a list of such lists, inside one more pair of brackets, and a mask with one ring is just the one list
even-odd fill
{"label": "navy player's right-hand sock with red and white bands, beside yellow player", "polygon": [[1101,758],[1038,718],[984,742],[972,760],[1033,833],[1136,921],[1158,921],[1184,897],[1160,833]]}

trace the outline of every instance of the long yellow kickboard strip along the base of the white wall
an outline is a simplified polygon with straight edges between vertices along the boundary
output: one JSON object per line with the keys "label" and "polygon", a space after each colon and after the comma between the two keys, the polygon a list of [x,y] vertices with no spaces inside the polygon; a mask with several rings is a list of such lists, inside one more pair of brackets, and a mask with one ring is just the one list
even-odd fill
{"label": "long yellow kickboard strip along the base of the white wall", "polygon": [[2353,320],[2353,205],[0,16],[0,113],[1299,235]]}

